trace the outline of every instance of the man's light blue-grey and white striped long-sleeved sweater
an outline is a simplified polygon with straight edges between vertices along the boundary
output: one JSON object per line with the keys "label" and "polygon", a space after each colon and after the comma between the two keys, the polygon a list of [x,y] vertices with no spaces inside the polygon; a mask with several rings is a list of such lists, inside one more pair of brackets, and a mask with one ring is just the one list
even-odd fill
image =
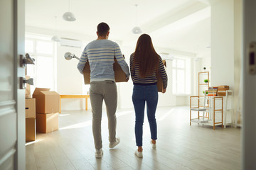
{"label": "man's light blue-grey and white striped long-sleeved sweater", "polygon": [[122,52],[116,42],[111,40],[94,40],[83,50],[78,63],[78,70],[82,74],[87,60],[90,64],[90,81],[114,81],[114,57],[129,78],[129,67],[122,57]]}

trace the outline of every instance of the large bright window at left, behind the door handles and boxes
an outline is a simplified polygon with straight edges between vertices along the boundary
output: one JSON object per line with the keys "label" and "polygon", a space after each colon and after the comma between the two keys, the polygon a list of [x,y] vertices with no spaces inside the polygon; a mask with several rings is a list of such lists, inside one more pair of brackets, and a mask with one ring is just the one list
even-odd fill
{"label": "large bright window at left, behind the door handles and boxes", "polygon": [[25,52],[35,59],[35,64],[27,65],[27,75],[34,79],[31,91],[36,87],[55,91],[55,43],[47,37],[26,35]]}

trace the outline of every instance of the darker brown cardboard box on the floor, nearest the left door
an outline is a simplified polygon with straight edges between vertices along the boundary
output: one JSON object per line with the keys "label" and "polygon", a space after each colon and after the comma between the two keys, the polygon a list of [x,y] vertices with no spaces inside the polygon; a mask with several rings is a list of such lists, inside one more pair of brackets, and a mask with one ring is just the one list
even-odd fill
{"label": "darker brown cardboard box on the floor, nearest the left door", "polygon": [[26,142],[36,140],[36,119],[26,118]]}

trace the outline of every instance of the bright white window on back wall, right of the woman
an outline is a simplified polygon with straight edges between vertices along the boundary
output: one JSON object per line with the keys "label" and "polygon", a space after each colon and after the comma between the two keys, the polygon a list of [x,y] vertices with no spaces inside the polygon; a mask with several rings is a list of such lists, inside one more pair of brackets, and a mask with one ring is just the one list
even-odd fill
{"label": "bright white window on back wall, right of the woman", "polygon": [[172,62],[173,94],[191,94],[191,60],[176,57]]}

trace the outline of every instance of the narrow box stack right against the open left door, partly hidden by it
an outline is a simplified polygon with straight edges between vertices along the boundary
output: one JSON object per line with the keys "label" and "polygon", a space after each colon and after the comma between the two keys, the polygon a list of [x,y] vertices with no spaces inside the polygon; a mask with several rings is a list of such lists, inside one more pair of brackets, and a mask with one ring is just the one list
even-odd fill
{"label": "narrow box stack right against the open left door, partly hidden by it", "polygon": [[[26,79],[30,79],[30,77],[26,76]],[[34,141],[36,140],[36,99],[31,96],[31,87],[29,84],[26,84],[25,113],[26,141]]]}

